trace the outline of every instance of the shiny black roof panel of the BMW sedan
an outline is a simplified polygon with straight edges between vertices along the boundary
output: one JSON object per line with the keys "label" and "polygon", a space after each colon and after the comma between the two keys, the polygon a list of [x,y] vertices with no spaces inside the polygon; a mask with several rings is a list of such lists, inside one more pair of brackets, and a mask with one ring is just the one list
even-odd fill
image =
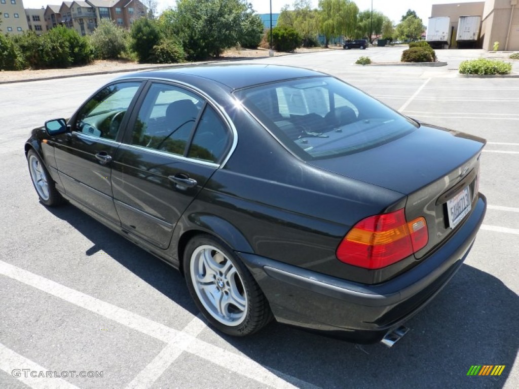
{"label": "shiny black roof panel of the BMW sedan", "polygon": [[132,73],[122,76],[119,79],[139,77],[188,81],[189,78],[192,78],[189,76],[216,81],[230,89],[240,89],[291,78],[328,75],[292,66],[268,64],[210,64],[175,66],[167,70]]}

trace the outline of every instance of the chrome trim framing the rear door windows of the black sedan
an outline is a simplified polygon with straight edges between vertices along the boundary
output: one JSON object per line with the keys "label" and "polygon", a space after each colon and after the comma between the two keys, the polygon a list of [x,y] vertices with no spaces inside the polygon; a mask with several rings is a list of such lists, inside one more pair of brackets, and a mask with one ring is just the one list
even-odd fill
{"label": "chrome trim framing the rear door windows of the black sedan", "polygon": [[[204,92],[201,89],[198,89],[198,88],[196,88],[196,87],[194,87],[194,86],[192,86],[190,84],[187,84],[186,82],[182,82],[182,81],[178,81],[178,80],[171,80],[169,78],[160,78],[160,77],[142,78],[142,77],[139,77],[138,75],[134,75],[134,77],[124,78],[124,80],[125,81],[126,80],[145,80],[145,81],[147,80],[147,81],[151,81],[151,82],[153,82],[153,81],[161,81],[161,82],[165,82],[166,84],[180,86],[182,88],[185,88],[187,90],[195,92],[196,94],[198,94],[198,95],[202,96],[204,99],[206,99],[208,104],[211,105],[212,108],[214,108],[216,113],[227,124],[227,128],[230,129],[231,136],[233,137],[233,143],[231,144],[231,146],[229,148],[229,151],[227,152],[226,157],[222,160],[222,162],[220,164],[213,163],[213,162],[204,162],[204,161],[200,161],[198,159],[193,159],[193,158],[181,157],[181,159],[182,160],[187,160],[187,161],[190,161],[190,162],[198,162],[198,163],[202,162],[202,164],[207,164],[208,166],[216,166],[217,169],[223,169],[225,164],[229,161],[230,157],[233,156],[234,150],[236,150],[236,146],[238,145],[238,131],[236,130],[236,127],[235,127],[233,121],[230,119],[229,115],[227,115],[227,112],[225,112],[225,109],[220,104],[216,103],[211,98],[211,96],[209,96],[206,92]],[[233,95],[231,95],[231,94],[229,94],[229,95],[231,96],[231,98],[233,98]],[[124,143],[124,145],[127,145],[127,144]],[[127,145],[127,146],[134,146],[134,145]],[[144,148],[144,149],[151,150],[151,149],[148,149],[148,148]],[[161,155],[163,155],[163,153],[164,152],[160,152]],[[166,154],[169,155],[169,156],[177,157],[175,154],[170,154],[170,153],[166,153]]]}

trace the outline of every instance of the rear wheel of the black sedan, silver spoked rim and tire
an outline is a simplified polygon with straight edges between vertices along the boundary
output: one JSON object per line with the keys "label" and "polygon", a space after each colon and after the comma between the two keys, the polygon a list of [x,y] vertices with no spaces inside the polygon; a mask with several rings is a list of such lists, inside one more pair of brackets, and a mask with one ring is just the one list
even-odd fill
{"label": "rear wheel of the black sedan, silver spoked rim and tire", "polygon": [[221,240],[207,234],[192,238],[184,251],[183,270],[198,309],[225,334],[253,334],[272,319],[260,286]]}

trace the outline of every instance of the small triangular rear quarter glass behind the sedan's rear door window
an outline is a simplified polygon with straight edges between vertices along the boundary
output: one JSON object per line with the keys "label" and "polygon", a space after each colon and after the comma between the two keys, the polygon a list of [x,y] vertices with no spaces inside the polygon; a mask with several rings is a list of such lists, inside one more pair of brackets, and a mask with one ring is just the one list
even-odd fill
{"label": "small triangular rear quarter glass behind the sedan's rear door window", "polygon": [[200,118],[187,156],[202,161],[219,162],[231,137],[222,119],[207,105]]}

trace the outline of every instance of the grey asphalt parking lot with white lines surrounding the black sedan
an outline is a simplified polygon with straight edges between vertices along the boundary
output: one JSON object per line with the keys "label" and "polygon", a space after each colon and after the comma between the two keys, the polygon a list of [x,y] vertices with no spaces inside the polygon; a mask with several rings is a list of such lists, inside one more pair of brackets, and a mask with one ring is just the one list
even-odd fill
{"label": "grey asphalt parking lot with white lines surrounding the black sedan", "polygon": [[[477,50],[439,52],[441,68],[353,65],[398,50],[255,61],[330,73],[405,115],[488,141],[488,210],[472,252],[392,349],[276,323],[244,339],[213,331],[180,273],[75,207],[37,201],[23,153],[30,129],[68,117],[114,76],[0,85],[0,388],[519,387],[519,79],[450,70]],[[506,367],[468,377],[472,365]]]}

